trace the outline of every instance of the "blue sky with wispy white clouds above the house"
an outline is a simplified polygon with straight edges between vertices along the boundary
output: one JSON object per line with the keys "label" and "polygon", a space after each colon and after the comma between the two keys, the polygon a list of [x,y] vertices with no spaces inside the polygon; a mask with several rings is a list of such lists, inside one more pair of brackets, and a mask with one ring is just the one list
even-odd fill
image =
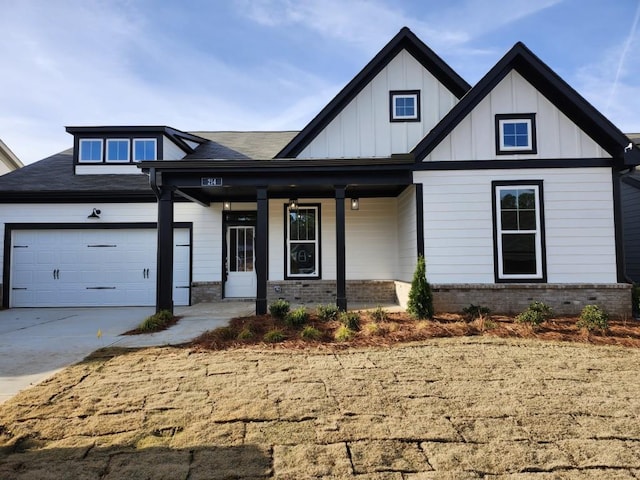
{"label": "blue sky with wispy white clouds above the house", "polygon": [[300,130],[409,27],[475,84],[518,41],[640,132],[640,0],[0,0],[0,139],[66,126]]}

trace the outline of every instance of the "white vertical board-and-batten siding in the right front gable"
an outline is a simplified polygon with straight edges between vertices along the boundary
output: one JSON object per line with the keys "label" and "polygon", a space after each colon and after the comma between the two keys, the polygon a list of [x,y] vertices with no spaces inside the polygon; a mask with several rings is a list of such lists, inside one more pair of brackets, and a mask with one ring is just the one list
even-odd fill
{"label": "white vertical board-and-batten siding in the right front gable", "polygon": [[[537,154],[496,155],[495,115],[535,113]],[[512,71],[425,158],[425,161],[610,158],[598,144]]]}

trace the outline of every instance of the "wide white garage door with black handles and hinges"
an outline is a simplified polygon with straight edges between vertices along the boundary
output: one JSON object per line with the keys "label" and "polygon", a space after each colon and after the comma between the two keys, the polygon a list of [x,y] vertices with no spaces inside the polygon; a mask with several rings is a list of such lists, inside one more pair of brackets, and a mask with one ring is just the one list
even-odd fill
{"label": "wide white garage door with black handles and hinges", "polygon": [[[189,304],[189,230],[174,234],[175,305]],[[155,229],[15,230],[12,307],[156,303]]]}

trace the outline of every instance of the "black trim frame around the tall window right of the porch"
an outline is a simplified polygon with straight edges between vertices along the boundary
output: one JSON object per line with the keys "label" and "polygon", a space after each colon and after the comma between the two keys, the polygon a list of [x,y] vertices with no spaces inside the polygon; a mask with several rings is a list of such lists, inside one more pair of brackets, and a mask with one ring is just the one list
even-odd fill
{"label": "black trim frame around the tall window right of the porch", "polygon": [[[540,278],[501,278],[498,262],[500,255],[498,252],[498,204],[496,201],[497,187],[522,187],[532,185],[538,187],[538,203],[540,204],[540,255],[541,255],[541,276]],[[491,215],[493,219],[493,275],[495,283],[547,283],[547,246],[546,229],[544,222],[544,182],[543,180],[494,180],[491,182]]]}

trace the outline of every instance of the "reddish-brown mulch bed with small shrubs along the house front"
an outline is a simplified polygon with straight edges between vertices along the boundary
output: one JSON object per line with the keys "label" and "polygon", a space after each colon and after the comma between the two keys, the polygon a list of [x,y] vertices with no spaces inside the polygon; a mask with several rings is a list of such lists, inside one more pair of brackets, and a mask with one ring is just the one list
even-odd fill
{"label": "reddish-brown mulch bed with small shrubs along the house front", "polygon": [[[492,315],[485,319],[467,321],[462,315],[440,314],[433,320],[418,321],[404,312],[388,313],[387,319],[374,322],[366,313],[361,313],[361,329],[353,339],[337,342],[334,332],[341,325],[336,320],[322,321],[311,314],[305,325],[311,325],[321,332],[319,340],[303,340],[300,333],[303,327],[291,327],[271,315],[258,315],[234,318],[228,327],[218,328],[196,338],[192,346],[203,350],[225,350],[259,345],[280,349],[329,348],[344,349],[350,347],[384,347],[402,342],[414,342],[442,337],[462,337],[487,335],[504,338],[537,338],[548,341],[580,342],[596,345],[618,345],[640,347],[640,321],[609,320],[607,332],[587,332],[576,327],[576,317],[559,317],[547,320],[541,326],[515,322],[513,317]],[[375,324],[374,326],[371,326]],[[278,329],[285,340],[267,343],[264,334]],[[242,331],[251,332],[250,338],[238,339]]]}

